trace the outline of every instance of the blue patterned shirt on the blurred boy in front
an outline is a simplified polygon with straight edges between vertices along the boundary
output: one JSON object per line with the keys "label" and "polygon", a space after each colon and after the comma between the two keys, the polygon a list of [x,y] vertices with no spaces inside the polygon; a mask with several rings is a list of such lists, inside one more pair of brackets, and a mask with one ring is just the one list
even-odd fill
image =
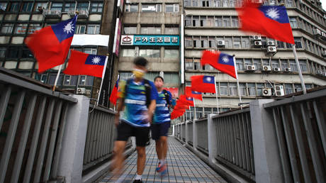
{"label": "blue patterned shirt on the blurred boy in front", "polygon": [[[149,127],[148,123],[148,109],[146,106],[146,88],[144,79],[140,83],[135,83],[134,79],[128,84],[125,91],[125,85],[120,87],[120,96],[125,96],[125,110],[121,116],[121,121],[129,123],[136,127]],[[153,82],[150,82],[151,94],[150,100],[157,100],[157,89]]]}

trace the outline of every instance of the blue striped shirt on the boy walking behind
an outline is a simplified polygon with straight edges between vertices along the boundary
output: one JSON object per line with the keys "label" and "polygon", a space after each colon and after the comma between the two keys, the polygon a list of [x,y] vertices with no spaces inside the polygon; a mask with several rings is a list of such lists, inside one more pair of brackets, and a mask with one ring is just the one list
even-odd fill
{"label": "blue striped shirt on the boy walking behind", "polygon": [[[169,94],[169,103],[172,104],[172,94],[170,91],[167,91],[167,94]],[[156,109],[154,113],[153,123],[165,123],[171,121],[169,108],[167,105],[167,100],[165,99],[163,91],[159,92],[158,98],[156,100]]]}

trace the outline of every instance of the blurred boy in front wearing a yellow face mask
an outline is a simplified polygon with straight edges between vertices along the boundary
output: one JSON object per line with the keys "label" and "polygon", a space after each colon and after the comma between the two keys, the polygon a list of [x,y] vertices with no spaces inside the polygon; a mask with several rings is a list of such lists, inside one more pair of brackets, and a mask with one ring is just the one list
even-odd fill
{"label": "blurred boy in front wearing a yellow face mask", "polygon": [[[118,173],[123,168],[123,151],[130,136],[136,138],[137,150],[137,174],[134,182],[142,182],[142,172],[145,168],[145,145],[149,141],[150,124],[156,106],[157,89],[153,82],[144,79],[147,60],[144,57],[136,57],[134,60],[133,74],[135,78],[121,83],[118,96],[118,112],[115,124],[118,136],[115,142],[113,168]],[[123,114],[120,111],[124,108]],[[120,117],[120,120],[119,120]]]}

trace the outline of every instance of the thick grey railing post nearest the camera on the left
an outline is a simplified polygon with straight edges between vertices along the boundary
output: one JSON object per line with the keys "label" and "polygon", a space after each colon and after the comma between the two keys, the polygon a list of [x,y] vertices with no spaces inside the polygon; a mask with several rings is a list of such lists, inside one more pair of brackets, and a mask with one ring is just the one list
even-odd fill
{"label": "thick grey railing post nearest the camera on the left", "polygon": [[73,97],[78,102],[69,106],[67,111],[58,175],[65,177],[67,183],[80,183],[89,118],[89,98],[81,95]]}

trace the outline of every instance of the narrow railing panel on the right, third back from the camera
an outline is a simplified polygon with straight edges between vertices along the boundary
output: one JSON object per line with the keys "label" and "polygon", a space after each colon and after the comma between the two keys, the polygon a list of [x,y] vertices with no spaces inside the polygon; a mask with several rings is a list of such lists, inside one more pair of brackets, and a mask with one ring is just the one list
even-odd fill
{"label": "narrow railing panel on the right, third back from the camera", "polygon": [[208,128],[207,128],[207,118],[196,120],[197,129],[197,147],[198,150],[203,151],[203,153],[208,154]]}

